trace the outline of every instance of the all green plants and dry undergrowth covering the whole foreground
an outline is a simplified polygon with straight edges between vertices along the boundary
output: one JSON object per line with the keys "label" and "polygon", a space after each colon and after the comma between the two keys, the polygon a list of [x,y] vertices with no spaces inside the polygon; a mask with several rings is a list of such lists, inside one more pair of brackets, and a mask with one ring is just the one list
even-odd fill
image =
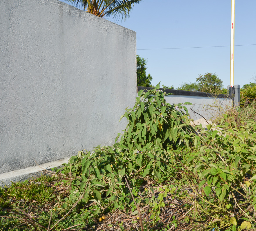
{"label": "all green plants and dry undergrowth covering the whole foreground", "polygon": [[255,230],[255,121],[194,127],[166,95],[139,91],[114,145],[2,188],[0,230]]}

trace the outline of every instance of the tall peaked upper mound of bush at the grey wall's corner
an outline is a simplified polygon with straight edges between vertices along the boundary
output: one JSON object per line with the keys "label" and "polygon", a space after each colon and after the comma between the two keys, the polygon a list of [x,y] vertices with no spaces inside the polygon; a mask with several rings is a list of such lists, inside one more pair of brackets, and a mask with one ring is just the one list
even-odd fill
{"label": "tall peaked upper mound of bush at the grey wall's corner", "polygon": [[190,147],[193,140],[189,134],[195,133],[195,130],[190,125],[188,110],[183,104],[167,103],[164,96],[168,95],[170,94],[159,90],[159,84],[150,91],[138,92],[134,107],[126,109],[125,114],[120,118],[121,120],[126,117],[128,120],[119,142],[120,147],[129,150],[142,148],[166,150],[170,146],[176,147],[181,144]]}

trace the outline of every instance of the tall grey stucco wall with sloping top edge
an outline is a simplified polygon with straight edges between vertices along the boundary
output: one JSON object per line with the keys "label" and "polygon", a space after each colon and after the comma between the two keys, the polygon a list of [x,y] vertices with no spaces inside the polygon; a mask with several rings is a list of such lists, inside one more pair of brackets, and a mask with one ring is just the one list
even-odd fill
{"label": "tall grey stucco wall with sloping top edge", "polygon": [[0,173],[112,144],[135,102],[136,33],[58,0],[0,8]]}

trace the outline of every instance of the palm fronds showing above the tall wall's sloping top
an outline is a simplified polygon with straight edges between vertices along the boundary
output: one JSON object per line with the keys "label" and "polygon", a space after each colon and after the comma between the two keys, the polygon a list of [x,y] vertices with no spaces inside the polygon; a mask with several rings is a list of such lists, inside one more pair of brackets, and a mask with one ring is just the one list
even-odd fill
{"label": "palm fronds showing above the tall wall's sloping top", "polygon": [[81,8],[91,14],[99,17],[113,18],[121,16],[126,19],[130,16],[130,11],[133,8],[134,3],[139,4],[141,0],[66,0],[71,5],[81,6]]}

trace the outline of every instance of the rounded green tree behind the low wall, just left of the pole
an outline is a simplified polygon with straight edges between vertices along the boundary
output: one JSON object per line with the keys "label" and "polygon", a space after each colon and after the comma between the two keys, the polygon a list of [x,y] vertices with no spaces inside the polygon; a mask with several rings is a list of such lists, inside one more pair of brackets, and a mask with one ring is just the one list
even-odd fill
{"label": "rounded green tree behind the low wall, just left of the pole", "polygon": [[199,76],[195,83],[182,83],[178,90],[193,91],[193,92],[207,92],[220,94],[223,89],[223,81],[217,76],[216,73],[206,74]]}

